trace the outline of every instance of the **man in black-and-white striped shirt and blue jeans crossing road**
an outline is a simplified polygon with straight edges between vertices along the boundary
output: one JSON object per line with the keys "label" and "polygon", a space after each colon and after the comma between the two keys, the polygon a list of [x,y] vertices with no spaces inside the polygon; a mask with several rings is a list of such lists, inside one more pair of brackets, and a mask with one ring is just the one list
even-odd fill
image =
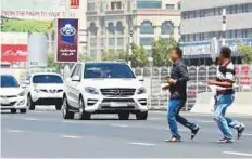
{"label": "man in black-and-white striped shirt and blue jeans crossing road", "polygon": [[214,105],[214,119],[224,135],[224,138],[219,140],[218,143],[234,143],[234,136],[229,128],[237,130],[238,140],[244,131],[243,123],[225,117],[228,106],[230,106],[234,102],[234,83],[235,66],[231,63],[231,50],[228,47],[223,47],[218,58],[216,80],[209,81],[209,84],[217,87]]}

